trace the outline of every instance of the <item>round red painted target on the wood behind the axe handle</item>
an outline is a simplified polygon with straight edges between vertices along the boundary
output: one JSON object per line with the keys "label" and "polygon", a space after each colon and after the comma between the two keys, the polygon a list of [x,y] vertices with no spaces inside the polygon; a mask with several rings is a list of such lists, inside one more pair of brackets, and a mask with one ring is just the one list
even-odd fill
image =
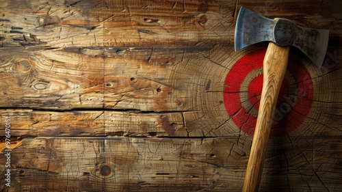
{"label": "round red painted target on the wood behind the axe handle", "polygon": [[[241,131],[252,135],[257,123],[263,85],[263,58],[266,49],[241,57],[226,76],[224,105]],[[287,72],[280,87],[271,135],[280,136],[299,128],[311,109],[313,83],[299,61],[289,57]]]}

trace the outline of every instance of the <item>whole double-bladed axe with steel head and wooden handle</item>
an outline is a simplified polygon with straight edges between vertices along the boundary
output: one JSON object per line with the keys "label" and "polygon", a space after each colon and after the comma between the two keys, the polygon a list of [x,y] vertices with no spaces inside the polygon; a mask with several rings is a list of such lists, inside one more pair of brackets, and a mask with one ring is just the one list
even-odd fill
{"label": "whole double-bladed axe with steel head and wooden handle", "polygon": [[318,68],[328,46],[329,31],[309,29],[289,20],[269,19],[241,7],[235,27],[235,51],[269,41],[263,60],[263,89],[243,191],[258,191],[276,102],[284,79],[289,46],[305,53]]}

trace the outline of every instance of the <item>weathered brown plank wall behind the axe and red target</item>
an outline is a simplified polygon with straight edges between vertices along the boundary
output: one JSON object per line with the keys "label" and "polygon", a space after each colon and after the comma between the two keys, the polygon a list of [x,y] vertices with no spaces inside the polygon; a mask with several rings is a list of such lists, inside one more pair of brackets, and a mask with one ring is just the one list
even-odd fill
{"label": "weathered brown plank wall behind the axe and red target", "polygon": [[252,137],[228,115],[224,82],[266,44],[234,52],[236,5],[330,29],[322,68],[290,51],[310,73],[311,110],[280,122],[304,118],[271,137],[261,191],[342,189],[339,1],[32,0],[0,3],[1,189],[241,191]]}

